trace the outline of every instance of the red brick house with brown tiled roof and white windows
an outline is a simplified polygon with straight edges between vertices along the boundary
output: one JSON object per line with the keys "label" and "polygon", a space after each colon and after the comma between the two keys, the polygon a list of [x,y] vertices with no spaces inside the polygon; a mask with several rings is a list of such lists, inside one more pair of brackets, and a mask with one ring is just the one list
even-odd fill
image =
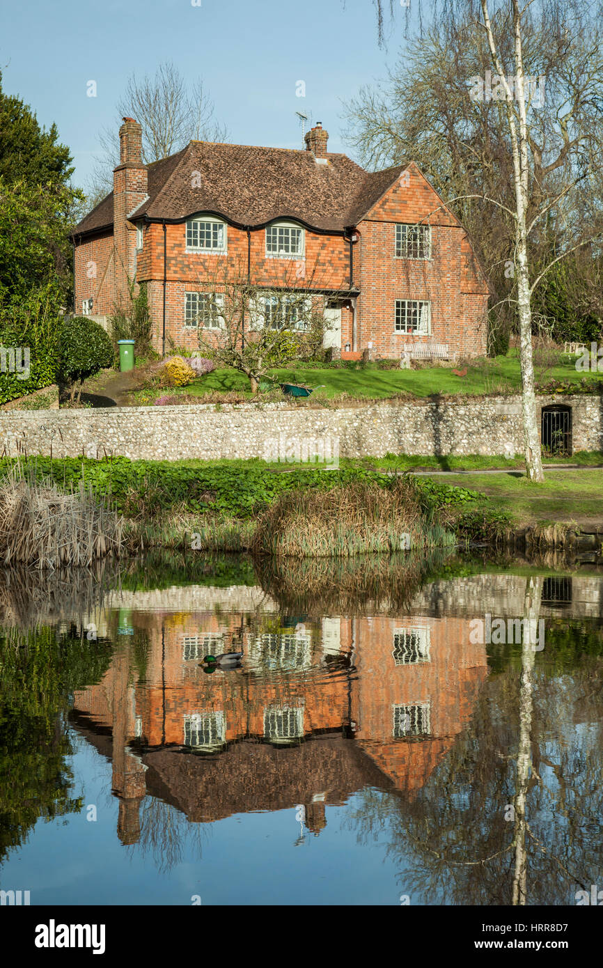
{"label": "red brick house with brown tiled roof and white windows", "polygon": [[[101,321],[147,285],[160,351],[215,328],[202,280],[247,272],[259,287],[307,289],[325,307],[325,346],[399,357],[407,345],[486,352],[489,288],[467,232],[410,162],[368,172],[327,152],[191,141],[145,166],[141,129],[120,128],[113,192],[75,228],[75,312]],[[213,307],[213,312],[212,312]]]}

